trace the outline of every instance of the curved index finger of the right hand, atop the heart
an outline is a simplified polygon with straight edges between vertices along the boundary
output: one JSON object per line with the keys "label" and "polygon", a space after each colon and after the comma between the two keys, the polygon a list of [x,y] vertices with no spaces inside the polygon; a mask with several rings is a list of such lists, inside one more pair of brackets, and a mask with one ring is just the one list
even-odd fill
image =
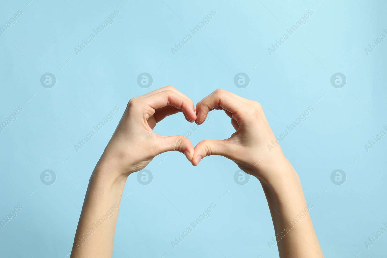
{"label": "curved index finger of the right hand, atop the heart", "polygon": [[229,113],[232,113],[232,116],[236,121],[242,120],[242,115],[249,106],[251,108],[251,105],[241,101],[231,94],[231,92],[218,89],[197,103],[197,123],[203,123],[208,112],[217,107],[221,107]]}

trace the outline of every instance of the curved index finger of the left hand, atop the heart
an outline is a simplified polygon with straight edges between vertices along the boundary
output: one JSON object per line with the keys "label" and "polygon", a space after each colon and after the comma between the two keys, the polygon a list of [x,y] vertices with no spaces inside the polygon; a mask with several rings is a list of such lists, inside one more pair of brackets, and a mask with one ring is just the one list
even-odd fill
{"label": "curved index finger of the left hand, atop the heart", "polygon": [[156,109],[165,106],[172,106],[173,108],[182,110],[187,115],[188,121],[195,121],[196,114],[193,104],[185,97],[180,96],[174,91],[166,90],[157,92],[153,95],[137,100],[139,105],[146,107],[145,114],[151,116],[156,112]]}

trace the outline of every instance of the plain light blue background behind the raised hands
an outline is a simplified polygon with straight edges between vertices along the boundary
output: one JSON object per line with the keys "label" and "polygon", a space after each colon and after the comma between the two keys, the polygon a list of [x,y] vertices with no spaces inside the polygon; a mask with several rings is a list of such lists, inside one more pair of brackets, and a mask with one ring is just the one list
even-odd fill
{"label": "plain light blue background behind the raised hands", "polygon": [[[0,26],[23,12],[0,35],[0,122],[23,108],[0,132],[0,219],[23,205],[0,229],[1,256],[69,257],[89,177],[128,97],[166,85],[194,103],[217,88],[259,101],[277,136],[312,107],[281,147],[313,204],[324,255],[386,255],[387,233],[368,249],[364,243],[387,229],[387,136],[369,152],[364,147],[387,132],[387,39],[369,55],[364,50],[387,36],[386,2],[66,1],[1,1]],[[76,55],[74,48],[114,10],[120,14],[113,24]],[[211,23],[173,55],[175,43],[211,10]],[[308,10],[307,23],[270,55],[267,48]],[[46,72],[57,79],[51,89],[40,84]],[[153,77],[148,89],[137,85],[142,72]],[[245,89],[233,83],[239,72],[250,77]],[[336,72],[347,78],[341,89],[330,84]],[[77,152],[78,140],[115,106],[114,120]],[[233,133],[223,111],[210,118],[190,137],[193,145]],[[184,135],[190,125],[176,114],[154,131]],[[40,181],[45,169],[55,171],[53,185]],[[127,180],[114,257],[278,257],[268,244],[274,229],[262,187],[256,178],[237,185],[232,161],[211,156],[193,167],[168,152],[147,169],[150,185],[140,185],[137,173]],[[330,181],[335,169],[345,171],[343,185]],[[211,203],[217,205],[211,217],[173,249],[171,241]]]}

